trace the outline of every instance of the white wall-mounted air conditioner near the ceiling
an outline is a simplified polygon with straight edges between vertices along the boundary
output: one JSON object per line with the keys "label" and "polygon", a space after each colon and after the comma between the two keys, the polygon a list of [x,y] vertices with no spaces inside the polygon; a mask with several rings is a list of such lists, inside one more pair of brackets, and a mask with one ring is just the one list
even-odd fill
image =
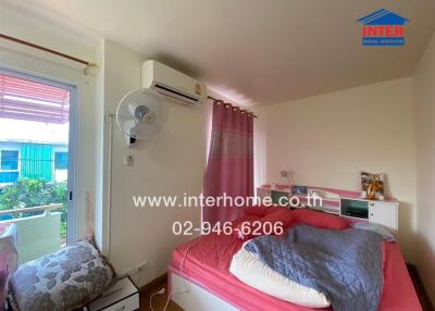
{"label": "white wall-mounted air conditioner near the ceiling", "polygon": [[204,84],[153,60],[142,63],[141,86],[188,104],[201,103],[207,98]]}

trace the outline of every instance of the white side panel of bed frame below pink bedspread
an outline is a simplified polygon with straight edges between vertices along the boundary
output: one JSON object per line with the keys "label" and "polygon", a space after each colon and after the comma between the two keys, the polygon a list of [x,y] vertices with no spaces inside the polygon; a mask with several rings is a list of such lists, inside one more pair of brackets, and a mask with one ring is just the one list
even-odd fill
{"label": "white side panel of bed frame below pink bedspread", "polygon": [[237,311],[240,310],[211,293],[199,282],[170,268],[169,290],[171,299],[186,311]]}

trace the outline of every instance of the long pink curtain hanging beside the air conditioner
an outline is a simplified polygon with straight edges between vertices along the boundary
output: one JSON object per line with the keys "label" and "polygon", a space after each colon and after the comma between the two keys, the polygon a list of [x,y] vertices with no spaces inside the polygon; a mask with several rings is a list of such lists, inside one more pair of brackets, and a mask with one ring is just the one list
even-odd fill
{"label": "long pink curtain hanging beside the air conditioner", "polygon": [[[213,102],[209,159],[204,178],[204,197],[253,196],[253,116],[219,101]],[[241,208],[222,202],[204,206],[202,220],[215,223],[232,221]]]}

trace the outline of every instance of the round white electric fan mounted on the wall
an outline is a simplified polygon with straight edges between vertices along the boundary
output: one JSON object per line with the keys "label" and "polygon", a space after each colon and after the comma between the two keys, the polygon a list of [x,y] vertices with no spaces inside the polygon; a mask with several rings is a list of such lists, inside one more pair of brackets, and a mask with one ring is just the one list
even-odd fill
{"label": "round white electric fan mounted on the wall", "polygon": [[116,122],[127,147],[136,139],[156,135],[167,120],[167,102],[151,89],[137,89],[123,97],[117,105]]}

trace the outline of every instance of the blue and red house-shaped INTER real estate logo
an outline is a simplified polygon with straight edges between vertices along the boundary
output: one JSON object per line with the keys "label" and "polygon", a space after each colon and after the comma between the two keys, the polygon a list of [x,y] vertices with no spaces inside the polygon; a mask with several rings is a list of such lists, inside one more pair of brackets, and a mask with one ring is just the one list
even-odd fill
{"label": "blue and red house-shaped INTER real estate logo", "polygon": [[409,20],[381,9],[358,22],[362,23],[363,46],[405,46],[405,24]]}

